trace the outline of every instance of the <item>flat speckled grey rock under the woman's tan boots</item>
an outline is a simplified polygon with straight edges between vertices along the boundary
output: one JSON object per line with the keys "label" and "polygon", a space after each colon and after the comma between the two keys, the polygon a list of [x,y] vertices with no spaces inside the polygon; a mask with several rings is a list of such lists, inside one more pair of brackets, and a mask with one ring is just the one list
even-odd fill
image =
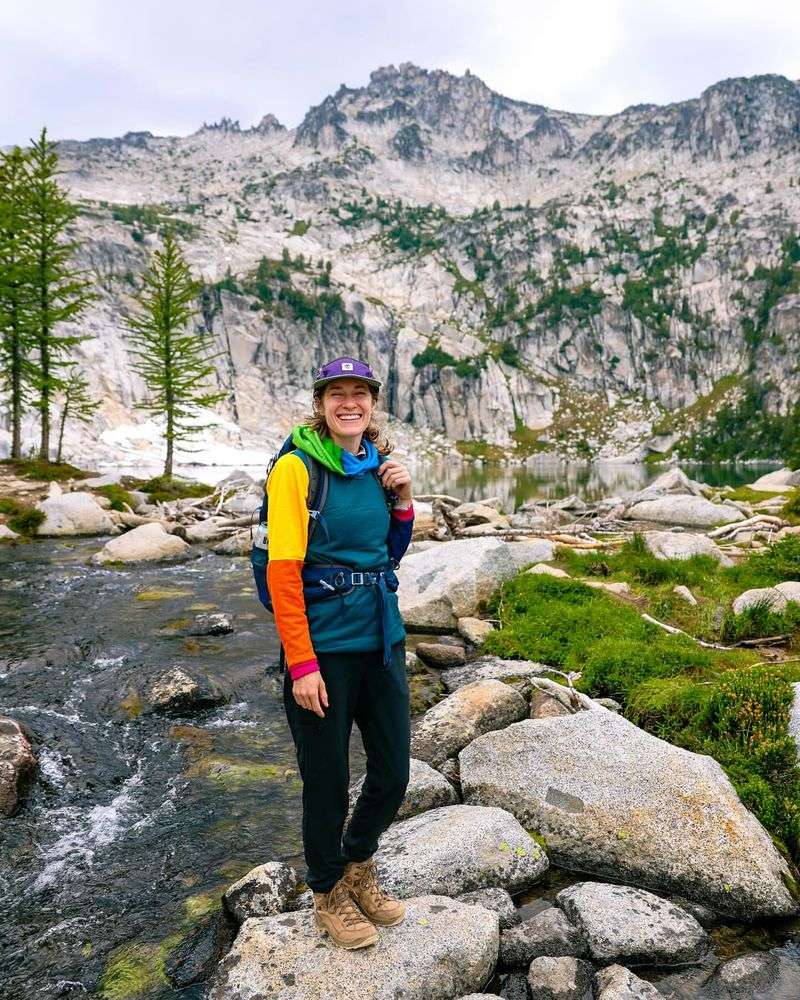
{"label": "flat speckled grey rock under the woman's tan boots", "polygon": [[406,901],[405,920],[356,952],[302,911],[246,920],[209,1000],[450,1000],[479,991],[498,948],[497,914],[443,896]]}

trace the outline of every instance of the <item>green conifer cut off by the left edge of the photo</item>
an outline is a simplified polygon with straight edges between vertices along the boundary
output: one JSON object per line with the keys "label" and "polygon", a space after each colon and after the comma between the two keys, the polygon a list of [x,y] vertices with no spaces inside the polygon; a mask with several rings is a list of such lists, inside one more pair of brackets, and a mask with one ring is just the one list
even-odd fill
{"label": "green conifer cut off by the left edge of the photo", "polygon": [[29,357],[33,261],[23,212],[29,182],[28,158],[19,146],[0,153],[0,388],[8,393],[12,458],[22,458],[22,414],[34,375]]}

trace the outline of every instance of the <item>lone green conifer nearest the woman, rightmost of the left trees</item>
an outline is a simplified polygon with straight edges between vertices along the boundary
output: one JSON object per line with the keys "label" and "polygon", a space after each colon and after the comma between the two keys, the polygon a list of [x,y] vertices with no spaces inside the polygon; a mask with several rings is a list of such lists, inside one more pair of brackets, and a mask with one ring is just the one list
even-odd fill
{"label": "lone green conifer nearest the woman, rightmost of the left trees", "polygon": [[137,296],[140,312],[128,320],[134,341],[131,367],[150,393],[149,399],[135,405],[166,420],[167,477],[172,476],[173,443],[198,433],[190,423],[198,409],[226,396],[207,385],[215,373],[211,361],[218,356],[207,353],[209,335],[187,329],[199,292],[200,284],[192,279],[175,235],[167,229]]}

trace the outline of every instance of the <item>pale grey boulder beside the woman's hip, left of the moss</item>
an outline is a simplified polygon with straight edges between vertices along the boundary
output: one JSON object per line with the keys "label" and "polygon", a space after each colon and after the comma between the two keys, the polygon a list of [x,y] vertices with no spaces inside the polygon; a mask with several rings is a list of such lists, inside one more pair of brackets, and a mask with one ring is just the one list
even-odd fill
{"label": "pale grey boulder beside the woman's hip, left of the moss", "polygon": [[442,542],[406,555],[397,575],[400,613],[407,625],[454,629],[478,614],[494,591],[517,573],[508,544],[499,538]]}

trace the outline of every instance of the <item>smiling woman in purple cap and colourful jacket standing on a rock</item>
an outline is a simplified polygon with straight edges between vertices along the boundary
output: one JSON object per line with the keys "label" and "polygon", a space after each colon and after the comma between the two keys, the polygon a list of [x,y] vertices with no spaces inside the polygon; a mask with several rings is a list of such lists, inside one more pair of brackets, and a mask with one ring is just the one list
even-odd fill
{"label": "smiling woman in purple cap and colourful jacket standing on a rock", "polygon": [[[278,459],[266,487],[267,579],[287,663],[284,707],[303,779],[306,881],[317,927],[343,948],[374,944],[376,925],[400,923],[405,914],[403,903],[381,889],[372,860],[408,785],[405,629],[391,588],[414,520],[411,476],[385,458],[391,445],[373,423],[380,385],[355,358],[321,368],[313,416],[295,427],[295,450]],[[328,472],[328,494],[309,541],[312,459]],[[304,563],[306,571],[309,564],[336,568],[320,571],[336,583],[321,584],[329,597],[304,600]],[[353,721],[367,773],[342,838]]]}

